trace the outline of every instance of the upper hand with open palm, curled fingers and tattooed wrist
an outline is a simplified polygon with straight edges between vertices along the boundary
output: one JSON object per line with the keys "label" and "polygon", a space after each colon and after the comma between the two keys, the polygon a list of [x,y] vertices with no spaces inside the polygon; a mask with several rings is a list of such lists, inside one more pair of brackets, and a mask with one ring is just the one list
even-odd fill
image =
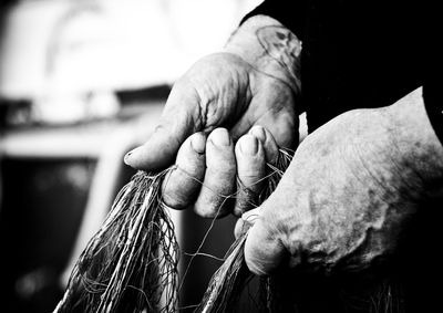
{"label": "upper hand with open palm, curled fingers and tattooed wrist", "polygon": [[[182,178],[166,180],[165,202],[182,209],[195,201],[196,212],[205,217],[227,213],[228,206],[219,210],[226,202],[223,196],[236,191],[237,171],[245,177],[251,170],[238,159],[234,142],[254,125],[269,129],[279,146],[293,147],[298,142],[299,54],[299,41],[281,24],[266,17],[251,18],[224,52],[198,61],[175,83],[156,131],[126,155],[125,163],[156,170],[172,165],[179,149],[175,171],[182,171],[176,174]],[[264,155],[250,137],[244,147],[257,158]]]}

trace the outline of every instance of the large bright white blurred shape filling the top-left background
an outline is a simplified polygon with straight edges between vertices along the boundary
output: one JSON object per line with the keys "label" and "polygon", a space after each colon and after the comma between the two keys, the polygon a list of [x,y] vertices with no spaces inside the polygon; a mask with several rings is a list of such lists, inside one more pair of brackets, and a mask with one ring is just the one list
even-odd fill
{"label": "large bright white blurred shape filling the top-left background", "polygon": [[258,2],[21,1],[6,21],[0,95],[35,98],[172,83],[199,56],[219,50]]}

